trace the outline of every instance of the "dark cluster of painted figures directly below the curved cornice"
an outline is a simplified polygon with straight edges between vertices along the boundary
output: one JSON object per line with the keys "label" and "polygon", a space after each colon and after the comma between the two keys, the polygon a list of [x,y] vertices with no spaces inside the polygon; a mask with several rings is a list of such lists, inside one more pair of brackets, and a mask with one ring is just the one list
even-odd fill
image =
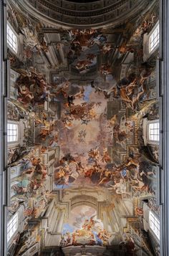
{"label": "dark cluster of painted figures directly below the curved cornice", "polygon": [[[85,74],[97,65],[97,55],[106,54],[112,49],[102,32],[95,29],[72,29],[69,44],[64,45],[69,64],[79,74]],[[65,44],[65,43],[64,43]]]}

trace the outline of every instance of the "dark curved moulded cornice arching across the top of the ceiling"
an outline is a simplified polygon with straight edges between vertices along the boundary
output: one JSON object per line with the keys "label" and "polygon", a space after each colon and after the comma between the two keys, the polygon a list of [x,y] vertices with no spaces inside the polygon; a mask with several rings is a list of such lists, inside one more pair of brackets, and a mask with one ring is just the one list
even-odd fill
{"label": "dark curved moulded cornice arching across the top of the ceiling", "polygon": [[9,0],[14,8],[49,27],[100,29],[115,27],[146,9],[149,0],[101,0],[79,4],[64,0]]}

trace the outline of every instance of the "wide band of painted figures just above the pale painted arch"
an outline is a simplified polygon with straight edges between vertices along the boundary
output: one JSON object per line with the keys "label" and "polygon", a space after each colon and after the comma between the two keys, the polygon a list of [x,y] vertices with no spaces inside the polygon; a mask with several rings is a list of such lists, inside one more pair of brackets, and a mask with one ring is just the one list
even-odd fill
{"label": "wide band of painted figures just above the pale painted arch", "polygon": [[110,163],[111,158],[107,149],[100,154],[97,149],[88,152],[87,163],[82,163],[69,153],[64,156],[55,166],[54,183],[57,189],[64,189],[69,186],[85,184],[90,186],[105,186],[115,194],[127,193],[127,184],[132,187],[134,194],[143,191],[155,194],[155,169],[150,162],[133,153],[125,163],[116,166]]}

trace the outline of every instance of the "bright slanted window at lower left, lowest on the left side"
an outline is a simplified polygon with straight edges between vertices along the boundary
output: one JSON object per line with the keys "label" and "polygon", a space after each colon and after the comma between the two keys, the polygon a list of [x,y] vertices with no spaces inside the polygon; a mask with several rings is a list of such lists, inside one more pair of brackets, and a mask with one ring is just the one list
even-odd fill
{"label": "bright slanted window at lower left, lowest on the left side", "polygon": [[[15,219],[16,219],[16,222],[12,225],[11,229],[13,229],[14,226],[16,226],[16,227],[14,228],[14,231],[12,232],[12,234],[10,236],[9,234],[10,234],[11,229],[9,229],[9,227],[10,227],[10,224],[12,224],[12,222],[14,222]],[[18,232],[18,229],[19,229],[19,212],[16,212],[14,215],[12,215],[12,217],[7,222],[6,234],[7,234],[7,243],[8,244],[10,244],[11,239]]]}

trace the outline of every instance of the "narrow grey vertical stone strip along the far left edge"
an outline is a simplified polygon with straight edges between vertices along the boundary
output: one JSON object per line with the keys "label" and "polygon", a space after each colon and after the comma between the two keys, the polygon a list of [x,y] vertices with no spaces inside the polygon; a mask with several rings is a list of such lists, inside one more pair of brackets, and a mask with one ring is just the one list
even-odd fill
{"label": "narrow grey vertical stone strip along the far left edge", "polygon": [[6,43],[6,1],[0,2],[0,255],[7,255],[7,206],[9,204],[9,173],[7,171],[6,103],[9,93],[9,62]]}

